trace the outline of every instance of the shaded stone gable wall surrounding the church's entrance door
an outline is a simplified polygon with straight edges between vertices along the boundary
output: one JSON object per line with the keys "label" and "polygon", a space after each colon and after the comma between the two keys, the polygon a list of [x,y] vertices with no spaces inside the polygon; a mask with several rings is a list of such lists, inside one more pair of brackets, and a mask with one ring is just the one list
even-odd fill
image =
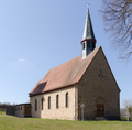
{"label": "shaded stone gable wall surrounding the church's entrance door", "polygon": [[105,117],[120,117],[120,89],[100,48],[78,83],[78,119],[85,104],[85,119],[95,119],[97,104],[105,105]]}

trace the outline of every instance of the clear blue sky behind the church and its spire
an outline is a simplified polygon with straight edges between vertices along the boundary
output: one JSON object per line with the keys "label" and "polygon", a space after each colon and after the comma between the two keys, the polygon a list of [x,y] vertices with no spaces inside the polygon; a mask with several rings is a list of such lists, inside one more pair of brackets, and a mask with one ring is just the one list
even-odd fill
{"label": "clear blue sky behind the church and its spire", "polygon": [[[123,99],[132,99],[132,58],[118,59],[99,14],[89,0],[96,46],[102,46]],[[22,104],[50,68],[81,55],[86,0],[0,0],[0,102]]]}

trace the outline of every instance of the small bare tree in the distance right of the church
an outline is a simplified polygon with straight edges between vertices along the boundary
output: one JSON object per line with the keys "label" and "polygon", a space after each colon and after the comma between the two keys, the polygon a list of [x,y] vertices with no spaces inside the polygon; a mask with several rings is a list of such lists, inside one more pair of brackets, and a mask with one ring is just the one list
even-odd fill
{"label": "small bare tree in the distance right of the church", "polygon": [[129,100],[129,99],[123,100],[123,106],[127,111],[129,110],[130,117],[132,117],[132,100]]}

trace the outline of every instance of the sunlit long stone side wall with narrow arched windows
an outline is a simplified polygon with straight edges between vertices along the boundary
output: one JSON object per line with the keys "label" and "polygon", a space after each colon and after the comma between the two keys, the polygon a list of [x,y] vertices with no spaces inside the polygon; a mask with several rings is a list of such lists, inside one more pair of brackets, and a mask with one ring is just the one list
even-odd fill
{"label": "sunlit long stone side wall with narrow arched windows", "polygon": [[[68,93],[68,107],[66,107],[66,93]],[[59,96],[58,108],[56,108],[57,95]],[[50,96],[51,109],[48,109]],[[44,98],[43,110],[42,98]],[[37,100],[37,110],[35,110],[35,99]],[[75,120],[75,86],[30,97],[30,102],[32,107],[31,113],[33,118]]]}

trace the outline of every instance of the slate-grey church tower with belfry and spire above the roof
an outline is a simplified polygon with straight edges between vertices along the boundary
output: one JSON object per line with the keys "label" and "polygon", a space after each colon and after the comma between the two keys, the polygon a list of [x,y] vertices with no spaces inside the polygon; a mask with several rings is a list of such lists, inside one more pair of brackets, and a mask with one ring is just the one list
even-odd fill
{"label": "slate-grey church tower with belfry and spire above the roof", "polygon": [[84,59],[96,47],[96,39],[95,39],[94,30],[92,30],[89,9],[87,10],[87,17],[86,17],[86,23],[85,23],[81,45],[82,45],[82,59]]}

